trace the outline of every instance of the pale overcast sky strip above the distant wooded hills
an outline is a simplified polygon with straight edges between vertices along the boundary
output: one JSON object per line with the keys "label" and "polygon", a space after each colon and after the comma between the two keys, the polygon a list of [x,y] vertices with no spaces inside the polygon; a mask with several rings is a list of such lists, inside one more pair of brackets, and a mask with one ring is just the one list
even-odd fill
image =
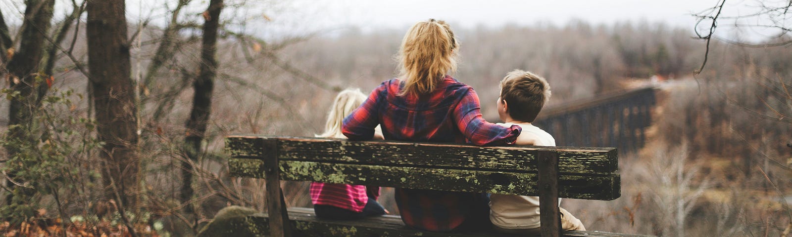
{"label": "pale overcast sky strip above the distant wooded hills", "polygon": [[[776,0],[764,0],[772,2]],[[785,2],[786,0],[777,0]],[[356,26],[364,32],[379,28],[406,29],[428,18],[445,20],[454,28],[474,28],[480,25],[498,27],[504,24],[536,25],[550,23],[564,25],[581,20],[592,24],[613,24],[623,21],[662,22],[689,28],[691,35],[699,13],[718,4],[717,0],[293,0],[284,9],[285,17],[295,21],[285,29],[348,28]],[[725,5],[722,16],[753,13],[756,0],[734,0]],[[725,22],[725,21],[724,21]],[[732,21],[733,22],[733,21]],[[297,26],[299,25],[299,26]],[[701,24],[708,29],[709,23]],[[272,28],[269,28],[272,30]],[[742,30],[744,35],[768,34]],[[736,30],[720,24],[718,34],[735,36]]]}

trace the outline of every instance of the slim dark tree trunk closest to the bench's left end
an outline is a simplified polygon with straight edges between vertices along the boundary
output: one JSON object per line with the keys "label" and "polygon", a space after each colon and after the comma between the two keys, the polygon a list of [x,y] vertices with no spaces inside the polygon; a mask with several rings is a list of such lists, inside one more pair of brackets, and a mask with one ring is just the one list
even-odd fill
{"label": "slim dark tree trunk closest to the bench's left end", "polygon": [[[185,149],[189,160],[182,161],[181,201],[183,203],[192,198],[192,164],[195,164],[202,154],[201,141],[204,140],[206,128],[211,115],[211,92],[214,89],[214,80],[217,73],[217,60],[215,51],[217,47],[217,28],[219,26],[220,10],[223,9],[223,0],[211,0],[209,8],[204,13],[204,38],[201,44],[200,73],[192,83],[195,97],[192,99],[190,119],[187,121],[187,137]],[[188,205],[187,212],[193,213],[192,205]]]}

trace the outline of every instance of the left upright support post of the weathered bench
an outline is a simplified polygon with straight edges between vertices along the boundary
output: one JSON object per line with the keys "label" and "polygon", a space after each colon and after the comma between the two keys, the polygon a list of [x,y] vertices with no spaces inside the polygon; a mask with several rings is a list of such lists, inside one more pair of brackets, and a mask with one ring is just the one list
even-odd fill
{"label": "left upright support post of the weathered bench", "polygon": [[291,237],[291,224],[286,210],[283,190],[280,189],[280,168],[278,167],[278,144],[276,140],[262,141],[264,148],[265,182],[267,187],[267,213],[269,214],[269,233],[271,236]]}

